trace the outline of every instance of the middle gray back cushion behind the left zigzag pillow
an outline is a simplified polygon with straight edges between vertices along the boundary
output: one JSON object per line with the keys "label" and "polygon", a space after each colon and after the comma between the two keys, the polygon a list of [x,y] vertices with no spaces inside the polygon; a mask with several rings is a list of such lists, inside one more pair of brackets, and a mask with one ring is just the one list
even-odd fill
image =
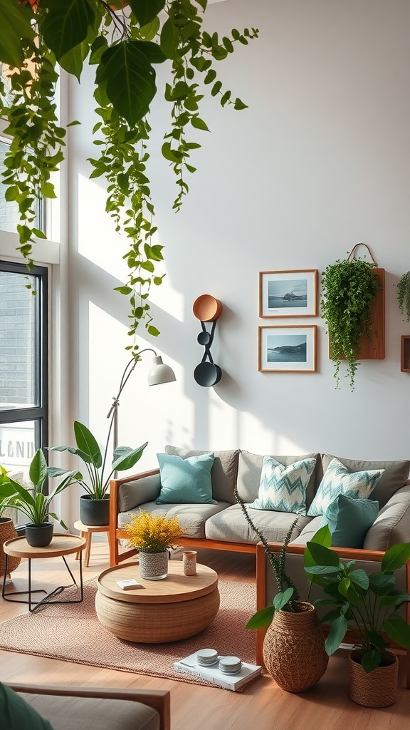
{"label": "middle gray back cushion behind the left zigzag pillow", "polygon": [[[264,456],[271,456],[276,461],[279,461],[279,464],[283,464],[283,466],[290,466],[290,464],[295,464],[295,461],[301,461],[305,458],[316,458],[316,467],[312,472],[306,490],[306,507],[309,508],[314,497],[315,489],[319,483],[317,470],[321,469],[320,454],[303,454],[303,456],[273,456],[272,454],[265,454]],[[263,456],[260,454],[252,454],[250,451],[243,450],[239,452],[237,486],[239,496],[244,502],[253,502],[258,497],[262,461]]]}

